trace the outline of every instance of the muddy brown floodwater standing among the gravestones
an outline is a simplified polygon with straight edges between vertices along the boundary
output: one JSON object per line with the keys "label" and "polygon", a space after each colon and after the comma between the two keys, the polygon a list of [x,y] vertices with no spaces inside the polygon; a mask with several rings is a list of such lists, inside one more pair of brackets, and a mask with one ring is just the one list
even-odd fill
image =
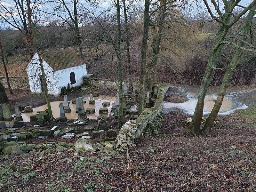
{"label": "muddy brown floodwater standing among the gravestones", "polygon": [[[95,100],[95,105],[89,105],[89,99],[90,97],[84,97],[84,110],[86,108],[95,108],[95,113],[94,114],[86,114],[88,118],[91,119],[96,119],[97,116],[99,116],[99,109],[102,108],[102,103],[103,102],[115,102],[116,97],[110,97],[110,96],[104,96],[100,95],[99,97],[93,97]],[[52,107],[52,115],[54,118],[60,117],[60,102],[64,103],[63,101],[52,101],[51,102],[51,107]],[[66,113],[67,119],[76,119],[77,118],[77,113],[76,113],[76,104],[72,104],[72,100],[69,101],[69,107],[71,109],[71,113]],[[35,107],[33,108],[33,113],[22,113],[21,116],[23,118],[23,122],[29,122],[30,121],[30,116],[33,114],[36,114],[37,111],[45,111],[47,109],[47,105],[43,105],[40,107]],[[108,106],[108,113],[111,111],[111,105]],[[101,114],[102,116],[108,116],[108,114]],[[13,115],[14,116],[14,115]]]}

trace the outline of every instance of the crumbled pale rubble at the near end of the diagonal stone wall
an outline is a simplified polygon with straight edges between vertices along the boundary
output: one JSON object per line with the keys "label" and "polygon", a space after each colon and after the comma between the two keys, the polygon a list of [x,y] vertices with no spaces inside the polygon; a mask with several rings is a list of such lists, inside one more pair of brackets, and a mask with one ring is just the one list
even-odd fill
{"label": "crumbled pale rubble at the near end of the diagonal stone wall", "polygon": [[126,151],[128,148],[132,148],[135,146],[134,139],[135,133],[137,132],[137,121],[129,120],[125,124],[123,124],[122,129],[119,131],[116,137],[116,149],[118,151]]}

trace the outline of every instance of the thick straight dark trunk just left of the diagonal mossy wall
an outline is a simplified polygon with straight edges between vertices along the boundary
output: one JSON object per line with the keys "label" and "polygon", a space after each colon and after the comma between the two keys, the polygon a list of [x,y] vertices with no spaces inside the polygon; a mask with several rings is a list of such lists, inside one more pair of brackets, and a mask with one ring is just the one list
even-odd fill
{"label": "thick straight dark trunk just left of the diagonal mossy wall", "polygon": [[148,48],[148,28],[149,28],[149,5],[150,0],[145,0],[143,36],[140,55],[140,96],[139,96],[139,115],[144,111],[145,86],[146,86],[146,56]]}

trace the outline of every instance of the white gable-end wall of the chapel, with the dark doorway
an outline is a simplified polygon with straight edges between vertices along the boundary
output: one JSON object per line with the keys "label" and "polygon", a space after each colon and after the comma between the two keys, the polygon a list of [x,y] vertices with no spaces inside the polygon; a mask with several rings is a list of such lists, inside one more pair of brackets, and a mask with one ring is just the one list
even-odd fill
{"label": "white gable-end wall of the chapel, with the dark doorway", "polygon": [[[47,81],[48,93],[57,95],[58,88],[55,82],[55,71],[43,60],[44,73]],[[36,53],[31,61],[29,62],[27,68],[28,73],[28,81],[30,86],[30,91],[35,93],[41,93],[42,87],[40,82],[40,76],[42,75],[42,71],[39,65],[38,54]]]}

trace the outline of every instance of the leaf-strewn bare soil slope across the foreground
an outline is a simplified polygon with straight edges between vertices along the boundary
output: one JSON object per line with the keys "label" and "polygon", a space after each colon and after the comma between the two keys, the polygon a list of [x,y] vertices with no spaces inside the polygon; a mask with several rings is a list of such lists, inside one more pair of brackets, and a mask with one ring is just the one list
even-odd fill
{"label": "leaf-strewn bare soil slope across the foreground", "polygon": [[[40,152],[0,159],[0,191],[256,191],[256,106],[220,116],[224,127],[189,135],[175,110],[158,135],[126,154]],[[70,159],[72,161],[70,161]]]}

